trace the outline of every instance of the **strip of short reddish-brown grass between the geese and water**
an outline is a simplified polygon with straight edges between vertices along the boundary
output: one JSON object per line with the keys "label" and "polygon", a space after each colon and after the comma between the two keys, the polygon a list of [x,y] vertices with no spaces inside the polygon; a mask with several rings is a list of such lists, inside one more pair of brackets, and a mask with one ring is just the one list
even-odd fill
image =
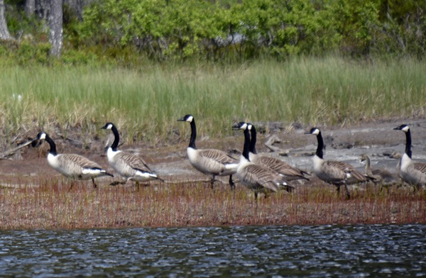
{"label": "strip of short reddish-brown grass between the geese and water", "polygon": [[69,184],[35,180],[0,189],[0,227],[121,228],[171,226],[323,225],[349,223],[426,223],[426,191],[410,187],[351,189],[336,196],[328,185],[300,186],[253,201],[251,191],[204,182],[133,186]]}

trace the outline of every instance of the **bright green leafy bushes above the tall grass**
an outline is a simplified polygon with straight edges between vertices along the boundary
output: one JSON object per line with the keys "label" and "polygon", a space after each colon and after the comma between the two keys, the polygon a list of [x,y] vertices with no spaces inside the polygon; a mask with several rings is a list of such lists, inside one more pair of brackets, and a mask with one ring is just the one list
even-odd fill
{"label": "bright green leafy bushes above the tall grass", "polygon": [[[20,9],[15,2],[9,3]],[[426,1],[90,0],[86,3],[81,18],[65,22],[65,51],[114,58],[137,55],[155,60],[229,60],[330,52],[355,57],[422,57],[426,48]]]}

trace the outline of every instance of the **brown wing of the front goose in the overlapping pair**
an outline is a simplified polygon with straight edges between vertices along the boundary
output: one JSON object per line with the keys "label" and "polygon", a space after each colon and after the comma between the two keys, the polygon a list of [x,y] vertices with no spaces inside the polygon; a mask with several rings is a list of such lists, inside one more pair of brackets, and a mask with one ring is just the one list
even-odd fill
{"label": "brown wing of the front goose in the overlapping pair", "polygon": [[280,179],[274,172],[254,164],[246,167],[246,180],[252,184],[258,184],[267,189],[271,189],[274,192],[280,189],[278,184],[284,182],[283,179]]}

